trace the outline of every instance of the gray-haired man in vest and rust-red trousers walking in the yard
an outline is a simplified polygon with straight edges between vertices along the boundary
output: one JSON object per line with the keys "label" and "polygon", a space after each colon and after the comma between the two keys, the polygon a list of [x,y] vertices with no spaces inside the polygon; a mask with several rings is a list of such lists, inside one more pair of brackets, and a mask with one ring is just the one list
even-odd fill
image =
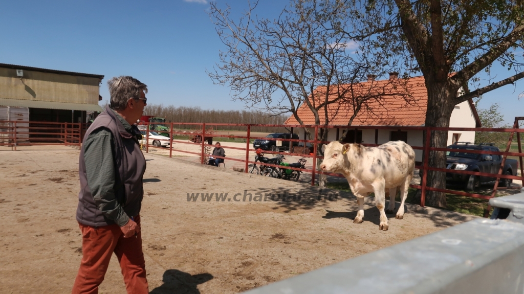
{"label": "gray-haired man in vest and rust-red trousers walking in the yard", "polygon": [[139,216],[146,160],[132,128],[144,112],[147,86],[130,76],[107,84],[111,104],[86,131],[80,152],[83,257],[72,292],[97,293],[114,252],[127,292],[148,293]]}

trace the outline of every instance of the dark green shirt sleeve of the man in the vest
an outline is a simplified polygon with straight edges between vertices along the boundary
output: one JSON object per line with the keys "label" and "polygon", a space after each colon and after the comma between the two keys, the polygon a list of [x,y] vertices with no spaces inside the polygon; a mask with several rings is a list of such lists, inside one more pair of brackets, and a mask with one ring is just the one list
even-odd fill
{"label": "dark green shirt sleeve of the man in the vest", "polygon": [[115,197],[114,141],[111,131],[106,128],[93,131],[86,138],[83,148],[88,186],[95,204],[105,217],[122,227],[129,217]]}

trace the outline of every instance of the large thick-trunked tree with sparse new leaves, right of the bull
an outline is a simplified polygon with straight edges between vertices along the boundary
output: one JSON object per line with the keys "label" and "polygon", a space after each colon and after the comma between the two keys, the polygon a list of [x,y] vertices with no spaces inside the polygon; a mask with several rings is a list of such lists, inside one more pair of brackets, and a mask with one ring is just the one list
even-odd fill
{"label": "large thick-trunked tree with sparse new leaves, right of the bull", "polygon": [[[359,41],[363,56],[398,56],[411,72],[422,72],[428,127],[449,127],[455,105],[524,77],[522,56],[514,51],[524,37],[518,0],[326,0],[324,11],[333,31]],[[492,77],[494,62],[514,73]],[[445,148],[446,142],[446,131],[432,131],[431,147]],[[430,152],[430,166],[445,163],[444,152]],[[444,188],[445,173],[430,171],[428,185]],[[445,194],[430,191],[426,203],[445,207]]]}

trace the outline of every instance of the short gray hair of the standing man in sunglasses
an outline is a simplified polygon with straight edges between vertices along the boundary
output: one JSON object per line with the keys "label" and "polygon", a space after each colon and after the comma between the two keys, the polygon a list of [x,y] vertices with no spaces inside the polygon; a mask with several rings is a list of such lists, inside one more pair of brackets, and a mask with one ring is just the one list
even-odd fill
{"label": "short gray hair of the standing man in sunglasses", "polygon": [[137,100],[140,93],[147,93],[147,85],[138,81],[132,76],[113,77],[107,81],[109,94],[111,95],[111,104],[109,107],[115,110],[124,110],[127,107],[127,101],[130,98]]}

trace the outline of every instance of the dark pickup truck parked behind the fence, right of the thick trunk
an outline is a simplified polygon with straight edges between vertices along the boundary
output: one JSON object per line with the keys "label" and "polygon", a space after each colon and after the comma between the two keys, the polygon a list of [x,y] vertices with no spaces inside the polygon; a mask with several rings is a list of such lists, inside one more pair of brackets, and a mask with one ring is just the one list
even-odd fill
{"label": "dark pickup truck parked behind the fence, right of the thick trunk", "polygon": [[[448,151],[446,153],[447,168],[455,169],[456,171],[498,174],[500,164],[502,162],[501,155],[468,152],[468,150],[499,152],[500,150],[497,146],[486,143],[475,145],[473,143],[457,142],[453,145],[447,146],[447,148],[456,149],[456,151]],[[517,160],[506,159],[503,168],[503,174],[512,176],[517,175]],[[465,189],[468,191],[474,191],[481,183],[491,182],[494,180],[496,180],[496,178],[490,176],[446,173],[446,182],[464,183]],[[511,179],[500,179],[499,185],[501,187],[509,187],[512,182],[513,180]]]}

